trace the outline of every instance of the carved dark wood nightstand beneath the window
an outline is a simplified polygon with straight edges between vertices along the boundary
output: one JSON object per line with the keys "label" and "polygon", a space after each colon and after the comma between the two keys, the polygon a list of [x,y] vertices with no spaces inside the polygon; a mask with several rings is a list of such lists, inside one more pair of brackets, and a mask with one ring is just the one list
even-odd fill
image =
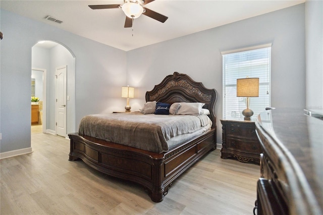
{"label": "carved dark wood nightstand beneath the window", "polygon": [[222,119],[221,158],[235,157],[240,162],[260,163],[260,143],[253,121]]}

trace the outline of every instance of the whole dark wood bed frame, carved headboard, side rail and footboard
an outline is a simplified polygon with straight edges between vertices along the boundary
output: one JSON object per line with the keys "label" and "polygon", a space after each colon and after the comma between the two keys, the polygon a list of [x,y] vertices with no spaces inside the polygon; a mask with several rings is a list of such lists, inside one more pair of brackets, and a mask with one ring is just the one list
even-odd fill
{"label": "whole dark wood bed frame, carved headboard, side rail and footboard", "polygon": [[212,128],[186,140],[168,152],[154,153],[94,137],[69,134],[69,160],[82,159],[90,167],[117,178],[144,186],[152,201],[163,201],[172,182],[195,164],[208,151],[216,149],[217,91],[207,89],[188,75],[168,75],[153,90],[146,92],[146,101],[203,102],[210,111]]}

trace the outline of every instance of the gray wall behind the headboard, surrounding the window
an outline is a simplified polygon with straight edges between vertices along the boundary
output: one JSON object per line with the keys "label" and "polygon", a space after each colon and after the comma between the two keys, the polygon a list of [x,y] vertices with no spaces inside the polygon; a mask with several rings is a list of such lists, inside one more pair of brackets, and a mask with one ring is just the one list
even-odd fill
{"label": "gray wall behind the headboard, surrounding the window", "polygon": [[[272,45],[272,106],[305,107],[304,4],[127,52],[127,78],[144,102],[151,90],[174,71],[186,73],[218,91],[217,143],[222,142],[221,51]],[[144,63],[143,63],[144,62]],[[137,106],[136,106],[137,108]]]}

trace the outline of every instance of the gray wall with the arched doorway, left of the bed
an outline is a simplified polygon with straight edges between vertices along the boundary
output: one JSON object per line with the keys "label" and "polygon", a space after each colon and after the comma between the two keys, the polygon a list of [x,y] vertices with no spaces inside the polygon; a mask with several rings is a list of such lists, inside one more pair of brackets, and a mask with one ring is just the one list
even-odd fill
{"label": "gray wall with the arched doorway, left of the bed", "polygon": [[120,86],[127,84],[125,51],[5,10],[0,16],[4,33],[0,50],[2,153],[31,146],[31,53],[37,41],[58,41],[75,56],[74,127],[84,115],[112,112],[124,106],[125,100],[119,94]]}

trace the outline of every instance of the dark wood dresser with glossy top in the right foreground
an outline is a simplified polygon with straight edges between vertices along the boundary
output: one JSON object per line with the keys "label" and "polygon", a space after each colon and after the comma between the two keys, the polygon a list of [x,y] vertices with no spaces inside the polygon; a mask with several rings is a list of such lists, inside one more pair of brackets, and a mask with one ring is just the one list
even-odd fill
{"label": "dark wood dresser with glossy top in the right foreground", "polygon": [[255,125],[263,150],[257,214],[323,214],[323,116],[275,109]]}

